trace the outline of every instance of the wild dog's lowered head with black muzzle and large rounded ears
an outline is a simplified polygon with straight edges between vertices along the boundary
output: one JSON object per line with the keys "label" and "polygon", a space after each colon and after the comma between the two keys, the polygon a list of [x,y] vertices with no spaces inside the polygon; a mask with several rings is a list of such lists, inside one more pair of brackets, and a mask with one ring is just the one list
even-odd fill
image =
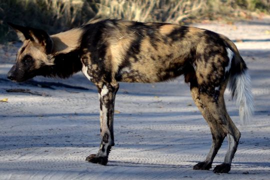
{"label": "wild dog's lowered head with black muzzle and large rounded ears", "polygon": [[8,23],[23,42],[16,55],[16,63],[7,73],[13,81],[24,81],[40,74],[44,66],[52,65],[48,58],[53,47],[50,36],[41,29]]}

